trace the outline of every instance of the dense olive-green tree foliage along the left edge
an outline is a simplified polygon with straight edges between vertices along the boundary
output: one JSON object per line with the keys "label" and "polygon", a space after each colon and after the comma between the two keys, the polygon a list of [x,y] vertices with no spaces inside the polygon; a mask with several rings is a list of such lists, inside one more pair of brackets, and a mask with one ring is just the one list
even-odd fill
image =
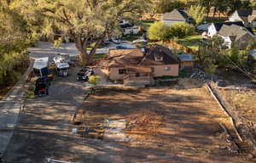
{"label": "dense olive-green tree foliage along the left edge", "polygon": [[0,0],[0,86],[15,79],[15,70],[26,55],[26,38],[26,21],[10,8],[9,1]]}

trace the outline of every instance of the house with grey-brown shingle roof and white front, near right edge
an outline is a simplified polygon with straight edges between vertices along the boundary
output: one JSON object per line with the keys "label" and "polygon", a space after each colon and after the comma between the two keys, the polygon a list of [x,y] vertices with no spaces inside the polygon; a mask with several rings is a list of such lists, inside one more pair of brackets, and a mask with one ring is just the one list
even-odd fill
{"label": "house with grey-brown shingle roof and white front, near right edge", "polygon": [[255,36],[247,28],[238,25],[223,25],[218,31],[218,36],[224,39],[227,48],[247,48],[250,42],[255,41]]}

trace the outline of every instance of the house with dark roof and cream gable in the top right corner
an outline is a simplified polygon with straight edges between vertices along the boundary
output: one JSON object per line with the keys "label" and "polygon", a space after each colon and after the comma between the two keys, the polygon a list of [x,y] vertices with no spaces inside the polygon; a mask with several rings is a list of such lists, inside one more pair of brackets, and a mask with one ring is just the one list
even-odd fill
{"label": "house with dark roof and cream gable in the top right corner", "polygon": [[256,10],[244,9],[236,10],[230,15],[230,21],[242,21],[247,27],[256,27]]}

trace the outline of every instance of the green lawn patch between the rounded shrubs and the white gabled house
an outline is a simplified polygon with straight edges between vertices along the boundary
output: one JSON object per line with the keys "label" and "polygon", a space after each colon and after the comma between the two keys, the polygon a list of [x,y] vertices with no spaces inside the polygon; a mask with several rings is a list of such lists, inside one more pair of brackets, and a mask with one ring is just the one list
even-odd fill
{"label": "green lawn patch between the rounded shrubs and the white gabled house", "polygon": [[184,47],[198,50],[199,49],[199,41],[201,39],[202,39],[201,35],[193,35],[193,36],[181,38],[177,41],[177,43],[183,45]]}

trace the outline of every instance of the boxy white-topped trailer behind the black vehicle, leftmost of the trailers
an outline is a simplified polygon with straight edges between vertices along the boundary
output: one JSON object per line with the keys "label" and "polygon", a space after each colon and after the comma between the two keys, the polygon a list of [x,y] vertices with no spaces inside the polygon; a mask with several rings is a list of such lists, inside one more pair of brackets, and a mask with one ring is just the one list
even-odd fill
{"label": "boxy white-topped trailer behind the black vehicle, leftmost of the trailers", "polygon": [[35,59],[33,70],[36,76],[44,77],[48,76],[48,65],[49,65],[49,58],[38,58]]}

